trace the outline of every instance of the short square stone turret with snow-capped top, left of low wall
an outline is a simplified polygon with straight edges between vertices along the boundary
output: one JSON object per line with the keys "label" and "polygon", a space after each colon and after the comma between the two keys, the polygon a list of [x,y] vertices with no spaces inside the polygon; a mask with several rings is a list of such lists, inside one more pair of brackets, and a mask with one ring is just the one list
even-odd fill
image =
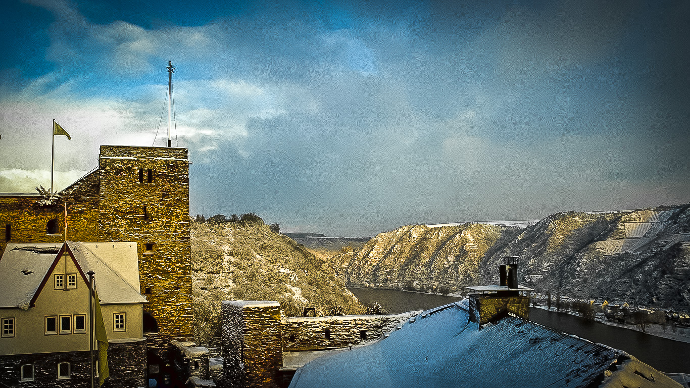
{"label": "short square stone turret with snow-capped top, left of low wall", "polygon": [[277,371],[283,366],[280,304],[224,300],[221,314],[221,387],[277,387]]}

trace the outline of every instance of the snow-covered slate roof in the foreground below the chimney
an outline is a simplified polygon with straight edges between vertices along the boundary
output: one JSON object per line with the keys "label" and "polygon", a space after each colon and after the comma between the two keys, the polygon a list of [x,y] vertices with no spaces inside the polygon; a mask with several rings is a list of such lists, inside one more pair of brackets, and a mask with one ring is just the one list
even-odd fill
{"label": "snow-covered slate roof in the foreground below the chimney", "polygon": [[[457,302],[424,311],[371,345],[308,362],[290,388],[599,387],[604,376],[617,387],[612,374],[624,374],[630,387],[648,386],[631,370],[607,371],[631,361],[622,351],[521,318],[480,329],[467,309]],[[662,386],[673,385],[653,385]]]}

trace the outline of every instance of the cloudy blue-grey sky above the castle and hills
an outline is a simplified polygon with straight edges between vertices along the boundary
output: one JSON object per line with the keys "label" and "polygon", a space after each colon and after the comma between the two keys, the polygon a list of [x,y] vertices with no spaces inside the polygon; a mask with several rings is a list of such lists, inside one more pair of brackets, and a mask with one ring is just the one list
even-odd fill
{"label": "cloudy blue-grey sky above the castle and hills", "polygon": [[189,149],[190,213],[368,237],[690,202],[688,1],[5,0],[0,192]]}

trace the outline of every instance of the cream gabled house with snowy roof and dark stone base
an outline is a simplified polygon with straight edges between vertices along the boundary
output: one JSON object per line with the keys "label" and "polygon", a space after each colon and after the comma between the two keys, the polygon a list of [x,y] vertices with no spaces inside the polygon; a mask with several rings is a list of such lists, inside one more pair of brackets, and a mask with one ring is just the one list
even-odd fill
{"label": "cream gabled house with snowy roof and dark stone base", "polygon": [[[109,387],[144,386],[146,339],[135,242],[8,244],[0,259],[0,382],[85,385],[89,271],[108,336]],[[95,345],[96,346],[96,345]]]}

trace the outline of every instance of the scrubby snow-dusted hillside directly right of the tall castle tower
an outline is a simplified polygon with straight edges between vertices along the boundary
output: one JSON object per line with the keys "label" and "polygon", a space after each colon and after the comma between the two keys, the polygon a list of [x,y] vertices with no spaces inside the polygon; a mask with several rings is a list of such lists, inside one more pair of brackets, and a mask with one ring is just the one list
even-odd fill
{"label": "scrubby snow-dusted hillside directly right of the tall castle tower", "polygon": [[192,222],[191,245],[197,320],[217,318],[221,300],[276,300],[286,316],[366,310],[333,269],[263,222]]}

